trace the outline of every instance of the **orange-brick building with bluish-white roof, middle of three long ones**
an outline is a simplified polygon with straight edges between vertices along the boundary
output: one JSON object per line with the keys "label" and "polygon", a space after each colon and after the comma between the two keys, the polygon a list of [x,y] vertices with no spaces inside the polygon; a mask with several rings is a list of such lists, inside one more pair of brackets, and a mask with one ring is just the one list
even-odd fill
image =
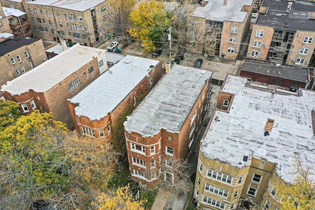
{"label": "orange-brick building with bluish-white roof, middle of three long ones", "polygon": [[110,142],[116,119],[137,100],[142,90],[151,90],[161,77],[161,61],[126,56],[68,99],[77,133]]}

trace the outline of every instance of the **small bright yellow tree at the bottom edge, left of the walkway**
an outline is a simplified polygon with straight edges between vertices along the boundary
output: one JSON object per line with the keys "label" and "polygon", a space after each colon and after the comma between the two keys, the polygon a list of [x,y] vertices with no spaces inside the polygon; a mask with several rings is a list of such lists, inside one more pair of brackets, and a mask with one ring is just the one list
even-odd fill
{"label": "small bright yellow tree at the bottom edge, left of the walkway", "polygon": [[146,202],[135,200],[128,184],[114,192],[102,193],[92,205],[96,210],[144,210],[143,204]]}

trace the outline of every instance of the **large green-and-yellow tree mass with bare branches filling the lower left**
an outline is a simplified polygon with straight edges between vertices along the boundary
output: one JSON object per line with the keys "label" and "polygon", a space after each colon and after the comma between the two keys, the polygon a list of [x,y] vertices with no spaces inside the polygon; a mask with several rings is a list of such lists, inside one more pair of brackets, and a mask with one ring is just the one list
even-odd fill
{"label": "large green-and-yellow tree mass with bare branches filling the lower left", "polygon": [[87,209],[111,179],[108,155],[102,142],[69,137],[50,113],[22,116],[0,132],[0,206]]}

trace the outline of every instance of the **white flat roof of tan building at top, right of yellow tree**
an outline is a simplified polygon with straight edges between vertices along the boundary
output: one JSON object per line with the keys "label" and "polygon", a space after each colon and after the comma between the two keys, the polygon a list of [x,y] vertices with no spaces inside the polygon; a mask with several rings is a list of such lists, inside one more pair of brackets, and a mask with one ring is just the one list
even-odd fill
{"label": "white flat roof of tan building at top, right of yellow tree", "polygon": [[227,0],[223,5],[223,0],[209,0],[205,6],[199,6],[191,16],[205,18],[217,22],[232,21],[244,22],[248,12],[242,11],[244,5],[251,5],[252,0]]}

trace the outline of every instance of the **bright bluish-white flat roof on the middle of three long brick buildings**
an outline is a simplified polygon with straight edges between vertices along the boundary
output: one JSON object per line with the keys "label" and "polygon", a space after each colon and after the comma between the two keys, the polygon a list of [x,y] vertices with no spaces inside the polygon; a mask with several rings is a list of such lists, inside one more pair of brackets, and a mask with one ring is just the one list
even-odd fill
{"label": "bright bluish-white flat roof on the middle of three long brick buildings", "polygon": [[104,118],[148,76],[150,65],[156,66],[158,62],[126,56],[68,101],[79,104],[75,108],[77,116],[86,116],[90,120]]}

